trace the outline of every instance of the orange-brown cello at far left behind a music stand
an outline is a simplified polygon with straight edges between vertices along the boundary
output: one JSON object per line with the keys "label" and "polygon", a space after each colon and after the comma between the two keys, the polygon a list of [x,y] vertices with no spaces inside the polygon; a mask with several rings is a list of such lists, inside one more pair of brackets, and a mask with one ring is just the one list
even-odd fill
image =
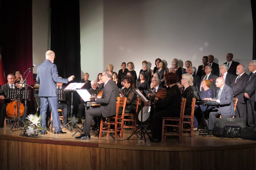
{"label": "orange-brown cello at far left behind a music stand", "polygon": [[18,109],[20,111],[19,116],[22,116],[25,110],[24,105],[21,102],[18,103],[18,100],[13,101],[11,99],[11,102],[6,106],[6,114],[10,117],[18,117]]}

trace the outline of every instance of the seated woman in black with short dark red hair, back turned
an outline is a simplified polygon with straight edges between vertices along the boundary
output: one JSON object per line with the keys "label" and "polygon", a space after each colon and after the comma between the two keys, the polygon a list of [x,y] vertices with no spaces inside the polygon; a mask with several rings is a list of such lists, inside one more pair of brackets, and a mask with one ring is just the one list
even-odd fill
{"label": "seated woman in black with short dark red hair, back turned", "polygon": [[180,117],[182,96],[176,84],[178,77],[175,73],[166,73],[164,77],[169,88],[164,99],[156,98],[156,104],[164,109],[153,115],[151,142],[161,141],[163,117]]}

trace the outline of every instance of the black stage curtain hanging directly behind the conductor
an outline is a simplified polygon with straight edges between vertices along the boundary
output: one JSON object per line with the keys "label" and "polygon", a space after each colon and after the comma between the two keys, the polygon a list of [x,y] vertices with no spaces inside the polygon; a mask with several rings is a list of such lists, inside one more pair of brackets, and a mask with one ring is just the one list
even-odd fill
{"label": "black stage curtain hanging directly behind the conductor", "polygon": [[[80,60],[80,12],[79,0],[51,0],[51,50],[54,63],[62,78],[75,75],[72,82],[81,81]],[[69,105],[71,97],[69,97]],[[77,112],[79,95],[73,96],[73,114]]]}

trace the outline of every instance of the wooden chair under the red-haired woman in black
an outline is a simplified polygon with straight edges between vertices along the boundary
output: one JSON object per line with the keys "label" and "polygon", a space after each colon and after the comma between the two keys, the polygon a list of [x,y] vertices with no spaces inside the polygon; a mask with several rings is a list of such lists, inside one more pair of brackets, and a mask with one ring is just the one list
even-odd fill
{"label": "wooden chair under the red-haired woman in black", "polygon": [[[180,143],[182,142],[182,138],[183,138],[183,116],[184,116],[185,104],[186,104],[186,99],[182,98],[180,117],[178,117],[178,118],[163,117],[162,140],[161,140],[162,143],[166,140],[167,135],[179,136],[179,142]],[[166,121],[178,122],[178,125],[168,124]],[[179,128],[179,129],[176,132],[168,132],[167,127],[176,127],[176,128]]]}

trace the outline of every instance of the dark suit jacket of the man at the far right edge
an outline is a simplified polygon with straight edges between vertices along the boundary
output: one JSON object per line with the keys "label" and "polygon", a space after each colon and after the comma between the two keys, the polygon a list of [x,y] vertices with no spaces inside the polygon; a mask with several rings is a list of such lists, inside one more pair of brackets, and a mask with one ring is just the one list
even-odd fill
{"label": "dark suit jacket of the man at the far right edge", "polygon": [[[250,77],[251,77],[251,79],[250,79]],[[248,76],[248,82],[247,82],[245,90],[244,90],[244,92],[249,95],[250,101],[255,101],[255,89],[256,89],[256,73],[252,74],[252,72],[251,72]]]}

